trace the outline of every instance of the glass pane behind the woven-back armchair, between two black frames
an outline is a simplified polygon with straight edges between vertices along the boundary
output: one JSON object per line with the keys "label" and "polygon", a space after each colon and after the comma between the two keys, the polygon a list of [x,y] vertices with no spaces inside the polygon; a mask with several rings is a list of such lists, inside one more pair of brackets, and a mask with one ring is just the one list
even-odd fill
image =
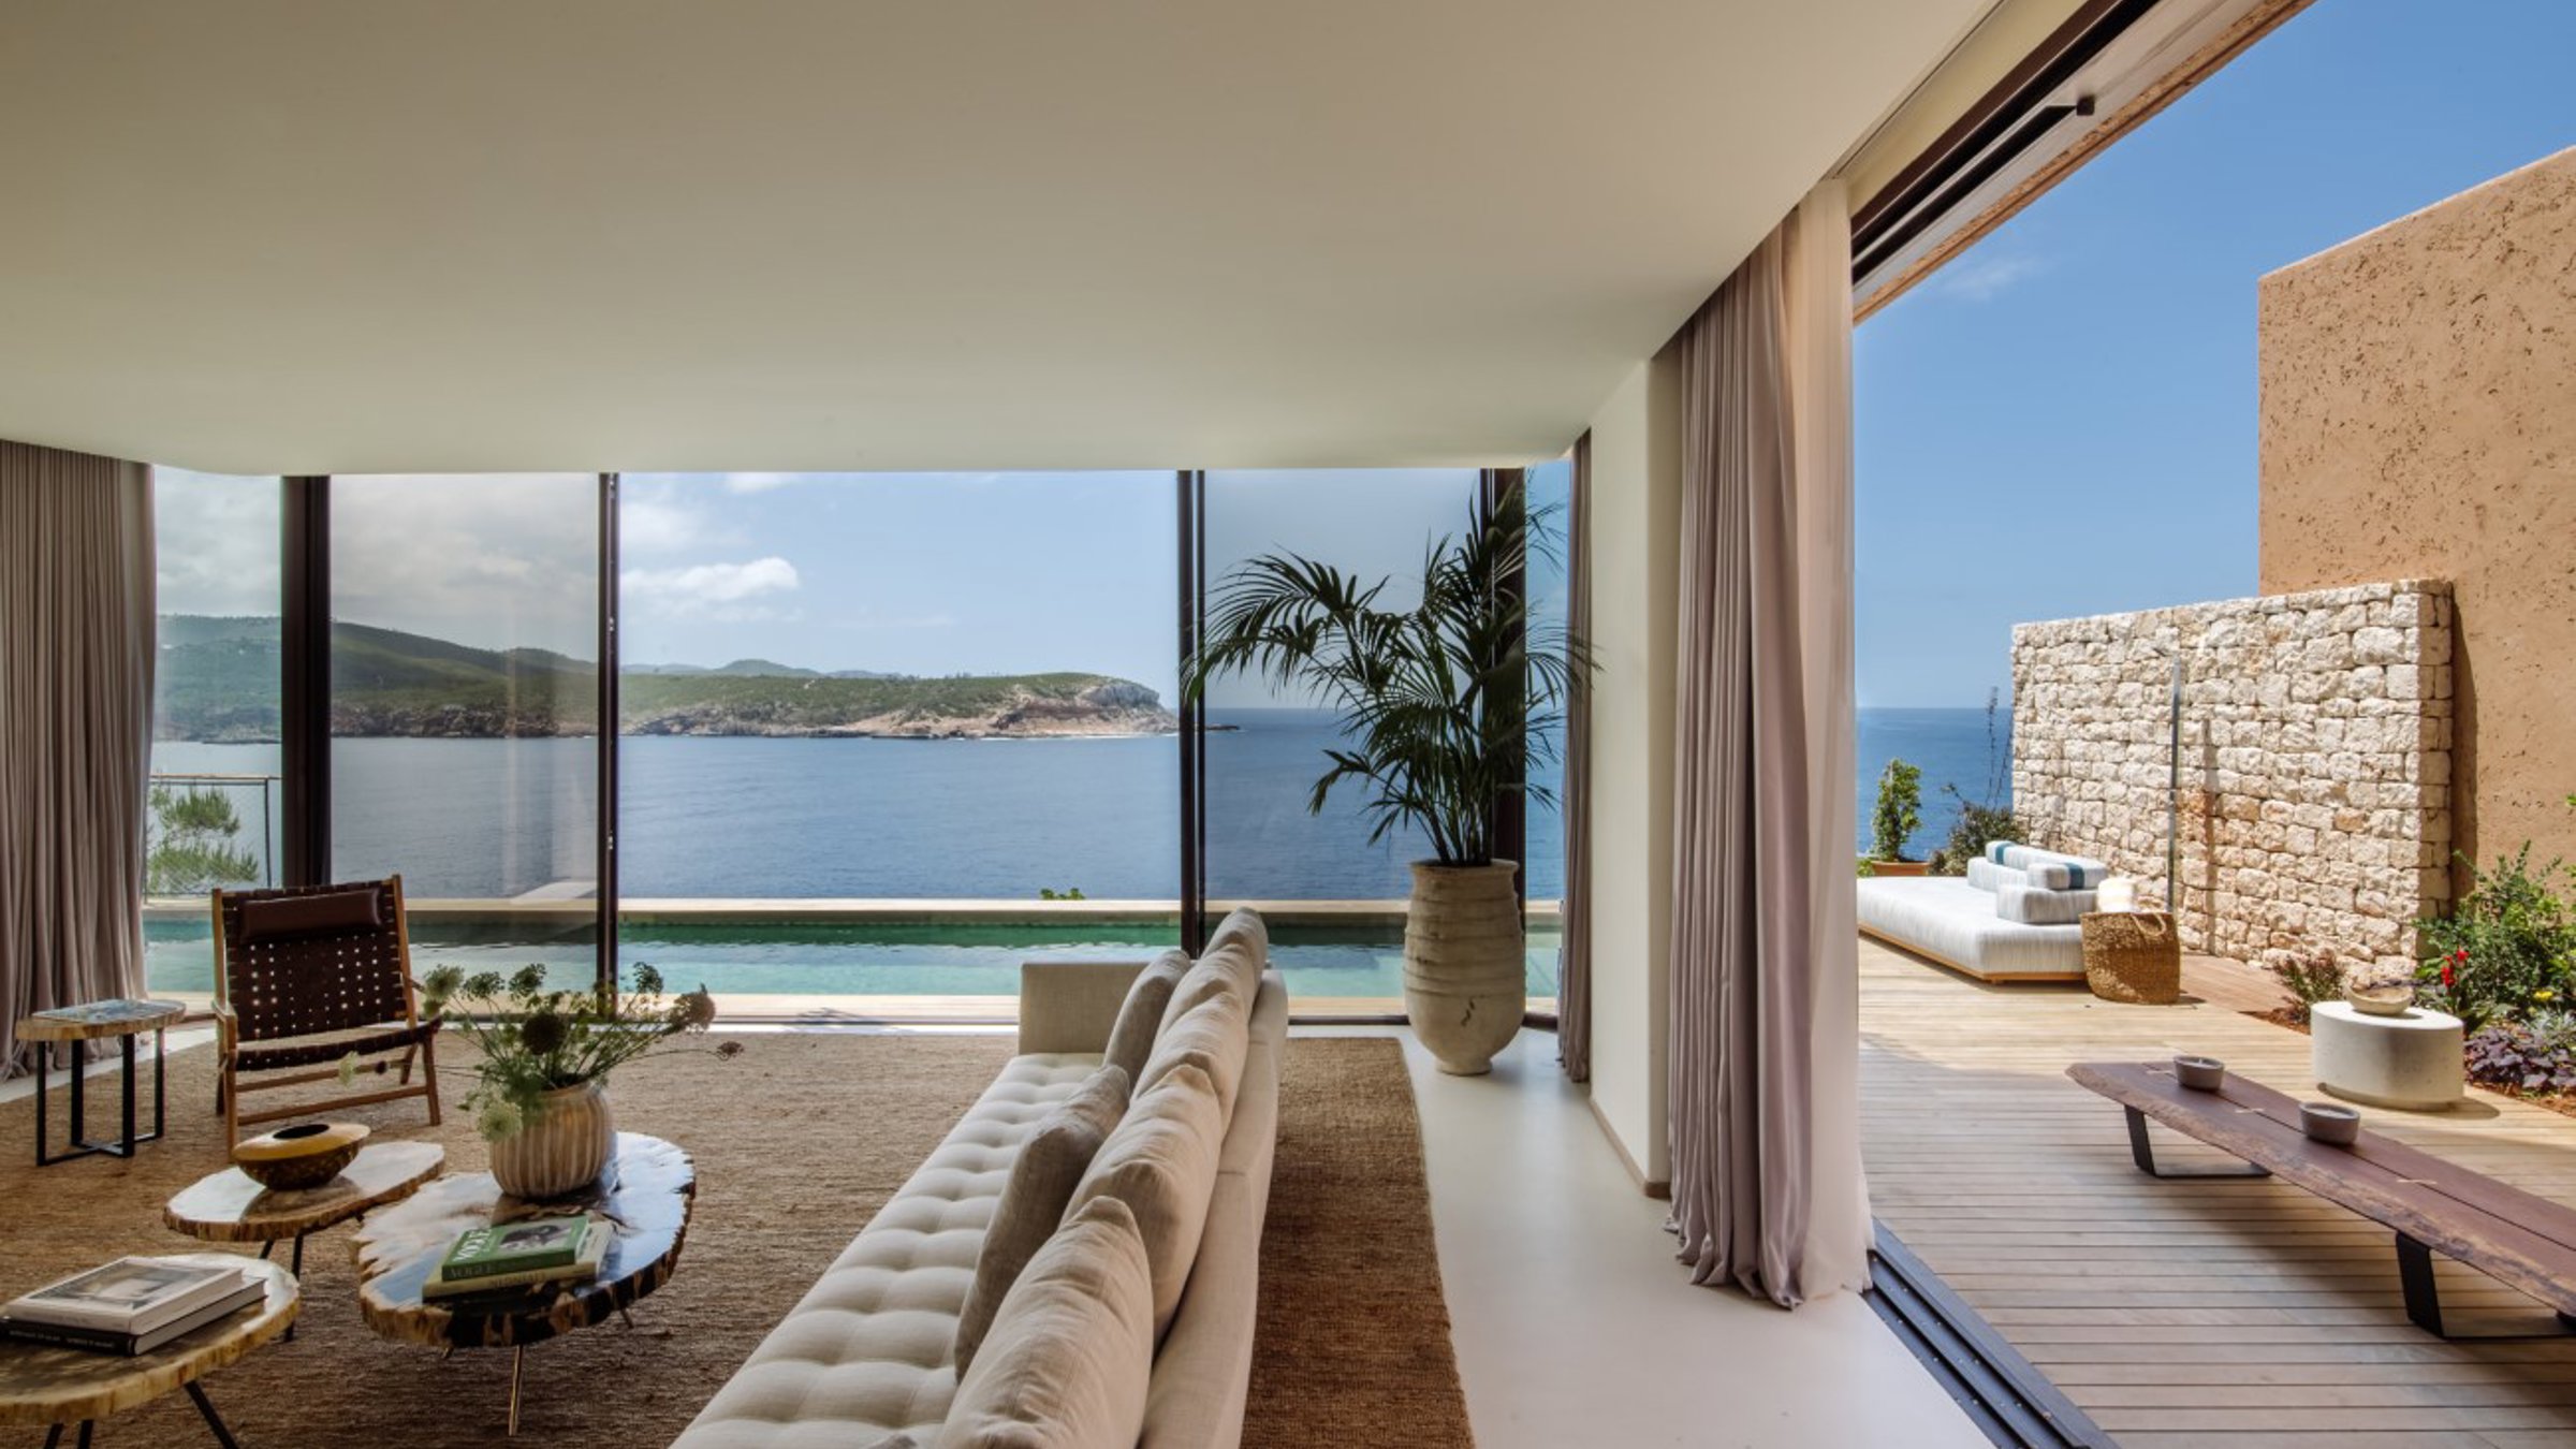
{"label": "glass pane behind the woven-back armchair, between two black frames", "polygon": [[595,975],[598,490],[330,482],[332,877],[402,874],[420,969]]}

